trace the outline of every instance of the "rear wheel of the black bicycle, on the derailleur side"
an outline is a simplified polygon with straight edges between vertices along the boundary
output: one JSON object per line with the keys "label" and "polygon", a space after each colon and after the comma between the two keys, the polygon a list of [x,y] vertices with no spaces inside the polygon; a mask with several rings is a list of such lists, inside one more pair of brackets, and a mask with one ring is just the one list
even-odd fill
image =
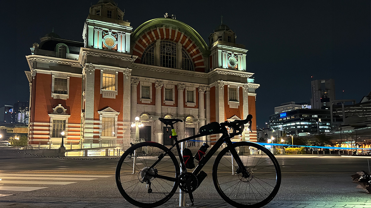
{"label": "rear wheel of the black bicycle, on the derailleur side", "polygon": [[156,142],[141,142],[122,154],[115,177],[121,195],[128,202],[138,207],[158,207],[174,195],[178,188],[177,181],[153,176],[178,176],[180,168],[173,152],[169,151],[158,164],[150,168],[159,160],[159,155],[165,154],[167,150],[167,147]]}

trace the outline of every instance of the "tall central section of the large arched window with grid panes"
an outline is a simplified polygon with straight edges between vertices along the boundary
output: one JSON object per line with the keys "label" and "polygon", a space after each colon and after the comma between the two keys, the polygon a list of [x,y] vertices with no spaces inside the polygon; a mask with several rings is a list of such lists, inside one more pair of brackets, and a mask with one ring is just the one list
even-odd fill
{"label": "tall central section of the large arched window with grid panes", "polygon": [[170,41],[160,42],[160,66],[177,67],[177,44]]}

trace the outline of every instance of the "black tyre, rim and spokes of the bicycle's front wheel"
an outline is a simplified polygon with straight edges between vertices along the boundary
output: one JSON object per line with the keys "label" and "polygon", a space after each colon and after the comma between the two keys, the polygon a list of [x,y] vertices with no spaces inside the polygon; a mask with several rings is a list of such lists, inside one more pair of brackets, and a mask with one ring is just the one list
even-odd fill
{"label": "black tyre, rim and spokes of the bicycle's front wheel", "polygon": [[[268,204],[275,196],[276,196],[276,194],[278,193],[278,190],[279,190],[279,187],[280,187],[280,184],[281,184],[281,170],[280,170],[280,167],[279,167],[279,164],[278,164],[278,161],[276,160],[276,158],[274,157],[274,155],[267,149],[267,148],[265,148],[265,147],[263,147],[262,145],[260,145],[260,144],[257,144],[257,143],[255,143],[255,142],[248,142],[248,141],[242,141],[242,142],[236,142],[236,143],[234,143],[234,144],[232,144],[232,148],[239,148],[239,150],[243,150],[243,149],[241,149],[240,147],[241,146],[244,146],[244,147],[254,147],[254,148],[257,148],[258,150],[260,150],[260,151],[262,151],[263,153],[265,153],[265,155],[262,155],[262,156],[260,156],[261,155],[261,153],[258,155],[258,156],[253,156],[253,155],[256,155],[256,154],[253,154],[253,155],[250,155],[250,149],[248,149],[248,152],[249,153],[247,153],[247,151],[246,151],[246,149],[244,149],[245,150],[245,154],[247,155],[247,156],[244,156],[244,157],[240,157],[240,155],[242,154],[242,155],[244,155],[243,153],[241,153],[241,151],[240,151],[240,155],[239,155],[239,157],[240,158],[242,158],[242,161],[243,161],[243,163],[244,163],[244,165],[246,165],[246,167],[249,167],[249,173],[250,173],[250,177],[249,178],[244,178],[244,177],[242,177],[242,175],[239,175],[239,174],[235,174],[235,175],[233,175],[232,174],[232,171],[233,172],[236,172],[236,171],[234,171],[234,168],[236,167],[236,166],[234,166],[234,168],[232,169],[232,166],[233,165],[237,165],[236,164],[236,162],[233,164],[233,165],[231,165],[232,164],[232,162],[230,162],[229,161],[229,164],[227,163],[227,165],[231,165],[230,167],[229,167],[229,169],[230,170],[228,170],[227,169],[227,171],[230,171],[230,175],[228,175],[228,173],[227,173],[227,175],[222,175],[222,171],[221,171],[221,169],[219,169],[219,174],[218,174],[218,167],[219,167],[219,165],[220,165],[220,161],[221,160],[223,160],[223,161],[227,161],[228,159],[229,160],[231,160],[231,158],[229,158],[230,156],[225,156],[225,154],[227,153],[227,152],[229,152],[230,151],[230,148],[231,147],[226,147],[226,148],[224,148],[223,150],[221,150],[221,152],[217,155],[217,157],[216,157],[216,159],[215,159],[215,161],[214,161],[214,165],[213,165],[213,182],[214,182],[214,186],[215,186],[215,188],[216,188],[216,190],[217,190],[217,192],[219,193],[219,195],[221,196],[221,198],[223,198],[224,199],[224,201],[226,201],[228,204],[230,204],[230,205],[232,205],[232,206],[234,206],[234,207],[237,207],[237,208],[259,208],[259,207],[263,207],[264,205],[266,205],[266,204]],[[265,167],[263,167],[263,168],[261,168],[260,166],[262,166],[262,163],[264,162],[260,162],[260,163],[258,163],[259,161],[260,161],[260,159],[258,160],[258,161],[256,161],[256,165],[255,166],[253,166],[254,165],[254,162],[255,162],[255,159],[256,158],[259,158],[259,156],[260,156],[260,159],[262,159],[263,158],[263,156],[264,156],[264,158],[265,158],[265,161],[269,161],[269,162],[267,162],[267,164],[269,164],[270,162],[272,162],[272,165],[274,166],[274,170],[275,170],[275,174],[272,172],[272,174],[270,174],[269,172],[266,172],[266,173],[262,173],[262,172],[264,172],[264,170],[262,170],[263,168],[265,168]],[[223,157],[225,157],[225,158],[223,158]],[[227,158],[228,157],[228,158]],[[245,158],[244,160],[243,160],[243,158]],[[247,159],[246,159],[247,158]],[[249,163],[249,158],[252,158],[251,160],[253,160],[253,161],[251,161],[250,160],[250,163],[252,164],[252,165],[247,165],[248,163]],[[245,164],[245,162],[244,161],[246,161],[246,164]],[[224,165],[224,164],[223,164]],[[257,165],[259,165],[259,168],[257,168]],[[265,164],[263,164],[263,165],[265,165]],[[270,166],[272,166],[272,165],[270,165]],[[226,166],[226,165],[224,165],[224,166]],[[238,166],[238,165],[237,165]],[[251,167],[251,168],[250,168]],[[227,167],[228,168],[228,167]],[[267,171],[269,171],[268,170],[268,168],[269,167],[266,167],[265,169],[267,170]],[[224,169],[226,169],[226,168],[224,168]],[[269,168],[270,170],[272,170],[273,169],[273,167],[270,167]],[[259,172],[260,171],[260,172]],[[232,177],[232,175],[233,175],[233,177]],[[260,175],[264,175],[263,176],[263,178],[259,178],[259,177],[261,177]],[[237,180],[234,180],[234,181],[230,181],[230,182],[225,182],[225,183],[221,183],[221,182],[223,182],[222,180],[229,180],[229,179],[225,179],[225,178],[236,178],[235,176],[237,176],[238,178],[237,178]],[[221,178],[221,177],[225,177],[225,178]],[[219,179],[218,178],[221,178],[221,180],[219,181]],[[260,186],[261,187],[255,187],[254,185],[253,185],[253,183],[259,183],[260,181],[258,181],[258,180],[260,180],[260,181],[263,181],[263,182],[265,182],[266,184],[268,184],[268,185],[270,185],[270,186],[272,186],[273,187],[273,185],[271,185],[271,184],[273,184],[274,182],[274,187],[272,188],[272,190],[270,190],[270,187],[269,186],[267,186],[268,187],[268,189],[269,190],[267,190],[267,189],[265,189],[265,187],[263,187],[263,185],[266,185],[266,184],[263,184],[263,185],[261,185],[260,184]],[[271,181],[268,181],[268,180],[271,180]],[[226,193],[226,191],[229,189],[229,188],[227,188],[226,190],[222,190],[222,188],[220,187],[220,185],[221,184],[223,184],[223,186],[224,186],[224,184],[227,184],[227,183],[234,183],[234,182],[236,182],[237,181],[237,183],[240,183],[239,185],[237,185],[237,183],[235,184],[236,185],[236,187],[234,187],[234,189],[236,189],[237,188],[237,186],[238,186],[238,190],[237,190],[237,192],[236,192],[236,194],[235,194],[235,196],[236,196],[236,199],[231,199],[231,198],[233,198],[233,196],[232,197],[230,197],[232,194],[233,194],[233,190],[232,190],[232,192],[229,194],[229,196],[227,196],[227,193]],[[266,182],[267,181],[267,182]],[[257,198],[256,198],[256,195],[255,195],[255,193],[253,192],[253,196],[255,197],[255,199],[256,199],[256,203],[255,202],[249,202],[249,203],[241,203],[239,200],[240,199],[238,199],[237,200],[237,195],[242,195],[243,194],[243,196],[245,196],[246,195],[246,192],[247,192],[247,188],[245,189],[246,191],[244,191],[244,192],[240,192],[239,190],[240,190],[240,186],[241,186],[241,183],[242,182],[244,182],[244,185],[246,185],[246,187],[249,187],[249,193],[251,194],[251,192],[253,192],[253,191],[257,191],[258,192],[258,194],[260,194],[260,196],[262,196],[262,200],[258,200]],[[271,183],[271,184],[269,184],[269,183]],[[230,184],[228,184],[228,185],[226,185],[226,186],[229,186]],[[232,184],[232,186],[233,186],[233,184]],[[232,186],[231,186],[231,188],[232,188]],[[262,187],[264,188],[264,191],[266,191],[266,192],[269,192],[269,194],[265,194],[264,196],[262,195],[262,193],[260,193],[259,191],[258,191],[258,189],[262,189]],[[243,189],[242,189],[243,190]],[[263,193],[264,194],[264,193]],[[249,197],[249,195],[248,195],[248,197]],[[252,195],[251,195],[251,197],[252,197]],[[259,195],[258,195],[258,198],[259,198]],[[241,200],[245,200],[245,199],[241,199]],[[246,200],[248,200],[248,201],[255,201],[254,199],[246,199]]]}

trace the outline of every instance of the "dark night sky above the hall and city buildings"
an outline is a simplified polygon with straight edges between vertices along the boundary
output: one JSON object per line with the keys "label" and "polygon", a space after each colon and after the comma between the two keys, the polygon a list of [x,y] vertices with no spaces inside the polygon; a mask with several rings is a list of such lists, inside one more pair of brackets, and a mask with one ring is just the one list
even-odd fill
{"label": "dark night sky above the hall and city buildings", "polygon": [[[39,38],[53,27],[62,38],[82,41],[89,7],[96,2],[34,0],[3,5],[0,106],[29,100],[24,71],[30,70],[25,56],[31,54],[32,43],[40,43]],[[312,79],[333,78],[336,99],[357,103],[371,90],[370,0],[116,3],[125,9],[124,20],[134,29],[167,12],[193,27],[207,43],[223,15],[223,23],[236,32],[236,42],[249,50],[247,71],[255,73],[260,84],[256,91],[259,127],[265,127],[281,103],[310,101]]]}

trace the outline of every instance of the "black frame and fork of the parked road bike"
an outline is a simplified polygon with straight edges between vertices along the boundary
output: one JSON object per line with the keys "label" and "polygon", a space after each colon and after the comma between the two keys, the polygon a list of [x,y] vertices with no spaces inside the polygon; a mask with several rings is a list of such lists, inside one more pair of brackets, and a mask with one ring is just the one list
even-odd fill
{"label": "black frame and fork of the parked road bike", "polygon": [[[228,131],[226,129],[226,127],[221,127],[222,130],[223,130],[223,135],[219,138],[219,140],[215,141],[215,144],[214,146],[210,149],[209,152],[207,152],[206,155],[204,155],[203,158],[201,158],[200,162],[198,162],[198,165],[197,167],[193,170],[193,174],[194,175],[197,175],[201,170],[202,168],[204,167],[204,165],[210,160],[210,158],[214,155],[214,153],[221,147],[221,145],[226,142],[227,146],[229,147],[230,145],[232,145],[232,141],[230,140],[230,138],[233,138],[233,136],[230,136],[228,134]],[[171,129],[173,130],[174,127],[171,125]],[[154,164],[152,164],[152,166],[149,168],[149,170],[151,168],[154,168],[158,162],[160,162],[162,160],[162,158],[165,157],[165,155],[168,154],[169,151],[171,151],[174,147],[177,147],[177,152],[178,152],[178,156],[179,156],[179,160],[180,160],[180,165],[181,165],[181,168],[182,168],[182,172],[187,172],[187,168],[185,167],[185,164],[184,164],[184,160],[183,160],[183,157],[181,155],[181,151],[180,151],[180,147],[179,147],[179,144],[181,142],[185,142],[185,141],[188,141],[188,140],[191,140],[193,138],[198,138],[198,137],[202,137],[202,136],[206,136],[206,135],[211,135],[211,134],[197,134],[197,135],[194,135],[194,136],[191,136],[191,137],[187,137],[187,138],[184,138],[182,140],[177,140],[177,135],[175,136],[171,136],[172,139],[174,139],[174,144],[165,152],[165,154],[163,155],[160,155],[158,157],[158,160],[156,162],[154,162]],[[238,153],[237,151],[234,149],[234,148],[231,148],[231,154],[233,155],[233,157],[235,158],[237,164],[239,167],[242,167],[243,172],[247,175],[249,175],[247,173],[247,170],[246,168],[244,168],[244,165],[243,165],[243,162],[241,161],[241,158],[238,157]],[[168,181],[177,181],[177,178],[171,178],[171,177],[167,177],[167,176],[164,176],[164,175],[151,175],[151,176],[154,176],[154,177],[157,177],[157,178],[162,178],[164,180],[168,180]]]}

